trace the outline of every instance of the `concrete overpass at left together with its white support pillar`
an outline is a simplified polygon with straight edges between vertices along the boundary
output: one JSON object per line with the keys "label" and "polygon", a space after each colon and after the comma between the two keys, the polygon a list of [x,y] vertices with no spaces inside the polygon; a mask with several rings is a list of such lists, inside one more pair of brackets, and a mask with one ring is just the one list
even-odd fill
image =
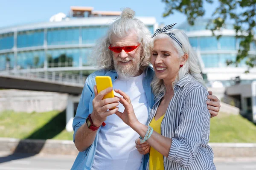
{"label": "concrete overpass at left together with its white support pillar", "polygon": [[[74,103],[79,102],[86,78],[59,72],[0,72],[0,88],[69,94],[66,109],[68,124],[73,120]],[[66,128],[70,131],[70,127]]]}

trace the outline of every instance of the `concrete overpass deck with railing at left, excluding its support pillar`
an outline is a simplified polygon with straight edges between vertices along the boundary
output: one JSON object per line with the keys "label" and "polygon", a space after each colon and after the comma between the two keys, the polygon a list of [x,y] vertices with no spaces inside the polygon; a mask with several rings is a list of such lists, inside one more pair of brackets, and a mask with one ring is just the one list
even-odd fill
{"label": "concrete overpass deck with railing at left, excluding its support pillar", "polygon": [[[20,89],[32,91],[51,91],[58,93],[67,93],[70,95],[80,95],[85,82],[85,77],[73,77],[67,79],[66,75],[55,75],[52,72],[47,73],[46,77],[41,75],[45,73],[25,73],[25,74],[0,74],[0,88]],[[64,76],[64,77],[63,77]],[[72,77],[73,75],[71,75]],[[70,77],[70,75],[68,75]]]}

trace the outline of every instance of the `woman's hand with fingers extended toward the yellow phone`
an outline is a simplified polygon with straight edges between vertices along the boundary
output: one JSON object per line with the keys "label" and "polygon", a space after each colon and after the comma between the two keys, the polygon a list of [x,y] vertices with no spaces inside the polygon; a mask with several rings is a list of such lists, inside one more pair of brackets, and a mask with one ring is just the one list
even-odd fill
{"label": "woman's hand with fingers extended toward the yellow phone", "polygon": [[134,113],[134,108],[131,104],[130,97],[119,89],[118,90],[115,89],[115,92],[123,96],[123,98],[119,97],[120,99],[119,102],[125,108],[123,113],[117,111],[115,114],[119,116],[122,119],[122,121],[125,122],[128,126],[130,126],[131,128],[134,128],[134,126],[137,124],[140,124],[140,122],[138,121]]}

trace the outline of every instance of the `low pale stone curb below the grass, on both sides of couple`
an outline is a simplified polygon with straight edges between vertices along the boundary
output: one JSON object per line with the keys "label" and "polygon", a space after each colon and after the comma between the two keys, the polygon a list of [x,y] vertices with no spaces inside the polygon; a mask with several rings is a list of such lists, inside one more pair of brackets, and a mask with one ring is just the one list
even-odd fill
{"label": "low pale stone curb below the grass, on both sides of couple", "polygon": [[[256,143],[209,143],[218,158],[256,157]],[[73,141],[0,138],[0,150],[11,153],[77,155]]]}

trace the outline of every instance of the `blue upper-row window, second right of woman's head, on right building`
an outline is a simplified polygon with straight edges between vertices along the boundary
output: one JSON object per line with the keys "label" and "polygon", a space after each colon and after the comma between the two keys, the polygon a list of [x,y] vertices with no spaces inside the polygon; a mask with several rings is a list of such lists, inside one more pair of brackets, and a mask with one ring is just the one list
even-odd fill
{"label": "blue upper-row window, second right of woman's head, on right building", "polygon": [[199,37],[201,51],[217,50],[216,37]]}

